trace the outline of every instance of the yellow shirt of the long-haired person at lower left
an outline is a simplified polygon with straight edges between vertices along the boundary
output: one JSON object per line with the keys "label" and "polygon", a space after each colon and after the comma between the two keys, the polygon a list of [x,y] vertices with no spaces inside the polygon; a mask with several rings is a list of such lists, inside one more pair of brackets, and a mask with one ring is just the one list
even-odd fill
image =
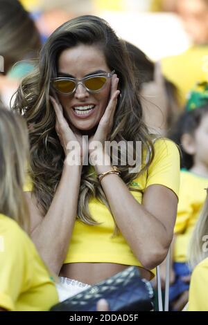
{"label": "yellow shirt of the long-haired person at lower left", "polygon": [[0,307],[49,310],[58,293],[35,246],[19,225],[0,214]]}

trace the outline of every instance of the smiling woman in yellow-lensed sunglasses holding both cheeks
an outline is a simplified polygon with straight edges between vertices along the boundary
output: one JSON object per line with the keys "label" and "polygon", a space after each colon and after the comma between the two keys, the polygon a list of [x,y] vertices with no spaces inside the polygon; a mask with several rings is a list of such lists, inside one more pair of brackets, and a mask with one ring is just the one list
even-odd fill
{"label": "smiling woman in yellow-lensed sunglasses holding both cheeks", "polygon": [[[55,30],[13,109],[28,122],[25,196],[46,265],[70,288],[128,266],[153,277],[173,236],[180,156],[148,133],[132,62],[107,22],[87,15]],[[107,151],[113,140],[134,145],[137,161]]]}

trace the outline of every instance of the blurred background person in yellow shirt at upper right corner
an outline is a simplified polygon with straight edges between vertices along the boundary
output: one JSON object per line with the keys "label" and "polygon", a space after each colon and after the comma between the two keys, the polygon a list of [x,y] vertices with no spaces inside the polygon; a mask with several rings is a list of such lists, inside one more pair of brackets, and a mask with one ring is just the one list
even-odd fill
{"label": "blurred background person in yellow shirt at upper right corner", "polygon": [[196,82],[208,79],[208,2],[207,0],[177,0],[177,12],[190,35],[193,46],[180,55],[162,59],[162,72],[177,86],[183,109],[189,91]]}

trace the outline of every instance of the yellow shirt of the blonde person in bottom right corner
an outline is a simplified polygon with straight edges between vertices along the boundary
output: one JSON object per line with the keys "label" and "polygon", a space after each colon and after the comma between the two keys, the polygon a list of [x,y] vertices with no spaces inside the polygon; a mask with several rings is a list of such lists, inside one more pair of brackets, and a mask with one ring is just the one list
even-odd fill
{"label": "yellow shirt of the blonde person in bottom right corner", "polygon": [[208,258],[193,270],[189,288],[188,311],[208,311]]}

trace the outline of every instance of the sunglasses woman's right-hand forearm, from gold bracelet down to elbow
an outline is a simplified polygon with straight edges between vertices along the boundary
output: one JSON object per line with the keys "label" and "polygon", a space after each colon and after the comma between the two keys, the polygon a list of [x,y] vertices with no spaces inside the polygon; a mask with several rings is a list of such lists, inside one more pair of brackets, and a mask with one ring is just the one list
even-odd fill
{"label": "sunglasses woman's right-hand forearm, from gold bracelet down to elbow", "polygon": [[[107,166],[96,167],[98,174],[109,169]],[[105,176],[101,185],[114,220],[132,252],[146,268],[154,268],[155,264],[161,263],[166,256],[172,230],[167,230],[162,221],[138,203],[116,174]],[[162,210],[162,203],[158,204]]]}

